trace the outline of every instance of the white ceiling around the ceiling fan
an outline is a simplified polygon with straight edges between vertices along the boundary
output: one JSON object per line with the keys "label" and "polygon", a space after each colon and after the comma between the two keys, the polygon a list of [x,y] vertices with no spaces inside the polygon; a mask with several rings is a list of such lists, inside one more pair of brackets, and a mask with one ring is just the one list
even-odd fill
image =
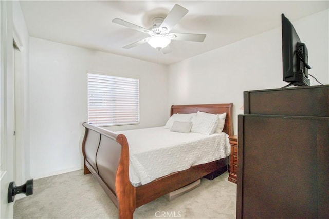
{"label": "white ceiling around the ceiling fan", "polygon": [[[203,43],[172,41],[168,54],[148,44],[122,47],[146,36],[112,23],[116,17],[149,28],[175,4],[189,10],[172,29],[207,34]],[[291,22],[328,8],[329,1],[20,1],[29,35],[145,61],[172,64],[279,28],[281,14]]]}

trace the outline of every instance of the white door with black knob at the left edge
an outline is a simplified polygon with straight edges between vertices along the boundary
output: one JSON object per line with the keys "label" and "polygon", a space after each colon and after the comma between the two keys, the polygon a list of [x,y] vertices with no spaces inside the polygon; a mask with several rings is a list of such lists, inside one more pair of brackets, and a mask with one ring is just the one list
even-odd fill
{"label": "white door with black knob at the left edge", "polygon": [[10,181],[14,180],[14,75],[12,43],[12,3],[0,1],[0,218],[12,218],[8,204]]}

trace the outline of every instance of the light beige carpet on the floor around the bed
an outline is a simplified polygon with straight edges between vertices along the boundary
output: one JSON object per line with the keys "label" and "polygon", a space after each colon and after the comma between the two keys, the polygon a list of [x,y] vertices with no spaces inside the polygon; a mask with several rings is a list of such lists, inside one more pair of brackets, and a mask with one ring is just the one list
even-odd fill
{"label": "light beige carpet on the floor around the bed", "polygon": [[[160,197],[134,218],[235,218],[236,184],[228,173],[169,202]],[[118,218],[118,210],[92,174],[82,170],[34,180],[33,195],[17,200],[14,218]]]}

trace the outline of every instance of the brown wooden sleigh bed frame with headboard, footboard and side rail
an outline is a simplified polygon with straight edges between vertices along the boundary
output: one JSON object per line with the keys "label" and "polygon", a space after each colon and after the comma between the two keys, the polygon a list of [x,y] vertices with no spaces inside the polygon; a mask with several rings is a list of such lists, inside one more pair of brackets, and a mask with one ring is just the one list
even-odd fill
{"label": "brown wooden sleigh bed frame with headboard, footboard and side rail", "polygon": [[[226,112],[224,132],[233,134],[232,103],[173,105],[175,113],[197,111],[221,114]],[[148,184],[132,186],[129,180],[129,146],[123,134],[102,129],[88,123],[82,142],[84,174],[92,173],[112,202],[117,206],[119,218],[133,218],[136,208],[169,192],[184,187],[199,178],[212,179],[227,171],[228,157],[158,178]]]}

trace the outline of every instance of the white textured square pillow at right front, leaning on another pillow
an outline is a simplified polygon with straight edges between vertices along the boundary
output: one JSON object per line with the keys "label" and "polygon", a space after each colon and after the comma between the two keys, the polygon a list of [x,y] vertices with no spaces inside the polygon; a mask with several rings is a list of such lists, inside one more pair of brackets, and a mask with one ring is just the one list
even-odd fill
{"label": "white textured square pillow at right front, leaning on another pillow", "polygon": [[211,135],[217,127],[218,116],[193,116],[192,123],[191,132]]}

